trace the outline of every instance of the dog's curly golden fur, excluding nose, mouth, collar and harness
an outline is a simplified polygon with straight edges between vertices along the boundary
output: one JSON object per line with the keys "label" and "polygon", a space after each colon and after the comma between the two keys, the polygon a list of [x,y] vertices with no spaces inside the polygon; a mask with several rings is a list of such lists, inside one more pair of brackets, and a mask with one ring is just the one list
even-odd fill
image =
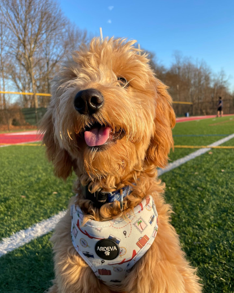
{"label": "dog's curly golden fur, excluding nose, mouth, collar and harness", "polygon": [[[147,195],[152,195],[158,211],[159,229],[146,254],[125,278],[121,292],[174,293],[201,292],[195,269],[181,250],[178,235],[170,224],[170,205],[164,200],[165,184],[157,178],[156,167],[167,164],[173,147],[172,127],[175,114],[167,86],[149,66],[146,54],[138,54],[136,41],[94,38],[89,48],[74,52],[55,78],[50,107],[41,131],[47,156],[55,175],[66,179],[76,173],[77,193],[70,204],[80,205],[87,219],[104,221],[123,216]],[[118,77],[127,84],[120,86]],[[78,91],[94,88],[104,97],[104,105],[93,115],[81,115],[73,101]],[[83,133],[93,123],[109,126],[120,138],[99,151],[85,143]],[[80,185],[114,191],[131,185],[133,191],[119,202],[106,203],[100,209],[84,198]],[[77,254],[70,238],[71,216],[58,223],[51,240],[54,243],[55,280],[53,293],[110,293],[104,283]]]}

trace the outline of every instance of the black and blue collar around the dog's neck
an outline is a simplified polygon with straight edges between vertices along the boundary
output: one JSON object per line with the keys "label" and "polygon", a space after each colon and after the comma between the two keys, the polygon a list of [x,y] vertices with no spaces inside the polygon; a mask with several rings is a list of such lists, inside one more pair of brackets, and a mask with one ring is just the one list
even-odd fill
{"label": "black and blue collar around the dog's neck", "polygon": [[106,202],[114,202],[117,200],[120,202],[120,209],[123,210],[123,199],[132,192],[132,187],[126,186],[113,192],[98,190],[95,193],[91,193],[88,189],[88,185],[81,185],[81,190],[85,198],[91,200],[98,208]]}

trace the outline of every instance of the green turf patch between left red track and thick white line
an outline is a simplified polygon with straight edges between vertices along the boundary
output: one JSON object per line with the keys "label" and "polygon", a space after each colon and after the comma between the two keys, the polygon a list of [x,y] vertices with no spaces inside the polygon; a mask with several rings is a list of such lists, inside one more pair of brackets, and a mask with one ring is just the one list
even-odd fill
{"label": "green turf patch between left red track and thick white line", "polygon": [[67,208],[75,176],[55,178],[44,148],[0,148],[0,239]]}

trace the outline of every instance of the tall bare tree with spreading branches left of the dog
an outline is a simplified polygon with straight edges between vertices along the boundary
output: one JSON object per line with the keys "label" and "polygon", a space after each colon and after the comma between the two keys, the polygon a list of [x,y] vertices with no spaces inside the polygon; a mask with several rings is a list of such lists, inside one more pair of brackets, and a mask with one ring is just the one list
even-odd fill
{"label": "tall bare tree with spreading branches left of the dog", "polygon": [[[36,91],[50,92],[59,64],[70,50],[87,42],[87,33],[70,24],[53,0],[2,0],[0,13],[10,32],[11,80],[19,91],[32,91],[33,77]],[[34,106],[32,96],[22,97],[22,103]],[[48,99],[40,97],[39,104],[47,106]]]}

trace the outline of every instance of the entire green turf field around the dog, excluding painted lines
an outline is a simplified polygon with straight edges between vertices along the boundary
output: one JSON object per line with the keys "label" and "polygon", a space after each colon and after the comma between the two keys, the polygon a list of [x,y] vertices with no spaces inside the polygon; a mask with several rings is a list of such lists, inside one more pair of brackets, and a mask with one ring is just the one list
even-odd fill
{"label": "entire green turf field around the dog, excluding painted lines", "polygon": [[[234,116],[178,123],[173,130],[176,145],[208,145],[232,133]],[[223,145],[234,146],[234,139]],[[175,149],[170,159],[194,151]],[[233,159],[234,149],[212,149],[161,176],[175,211],[172,224],[206,293],[234,292]],[[43,147],[0,148],[0,166],[0,240],[66,209],[75,176],[66,183],[55,178]],[[50,286],[50,236],[0,258],[1,293],[36,293]]]}

